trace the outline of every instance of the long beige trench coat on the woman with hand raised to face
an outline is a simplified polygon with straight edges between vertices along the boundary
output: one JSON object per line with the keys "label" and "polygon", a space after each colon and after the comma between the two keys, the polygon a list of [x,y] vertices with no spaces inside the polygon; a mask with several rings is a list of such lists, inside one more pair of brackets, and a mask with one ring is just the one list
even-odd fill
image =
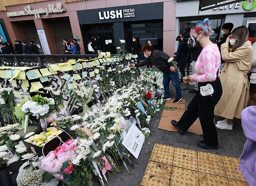
{"label": "long beige trench coat on the woman with hand raised to face", "polygon": [[234,52],[229,52],[228,43],[221,45],[221,57],[226,64],[221,71],[223,94],[215,107],[215,115],[227,119],[241,118],[241,111],[249,98],[249,81],[246,75],[251,69],[252,53],[250,41]]}

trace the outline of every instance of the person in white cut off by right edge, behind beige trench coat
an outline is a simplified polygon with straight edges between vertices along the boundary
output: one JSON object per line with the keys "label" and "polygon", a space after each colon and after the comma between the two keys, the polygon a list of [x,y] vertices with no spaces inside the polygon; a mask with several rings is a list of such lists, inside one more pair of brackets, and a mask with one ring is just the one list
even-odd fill
{"label": "person in white cut off by right edge, behind beige trench coat", "polygon": [[247,107],[256,105],[256,38],[254,38],[252,43],[253,55],[252,55],[252,67],[250,75],[250,90],[249,90],[249,101]]}

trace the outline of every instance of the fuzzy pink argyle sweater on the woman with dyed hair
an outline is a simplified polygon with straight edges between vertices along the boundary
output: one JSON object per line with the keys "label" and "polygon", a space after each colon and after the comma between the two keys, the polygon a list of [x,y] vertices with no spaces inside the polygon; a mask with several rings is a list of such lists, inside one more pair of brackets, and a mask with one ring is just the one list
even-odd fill
{"label": "fuzzy pink argyle sweater on the woman with dyed hair", "polygon": [[219,52],[219,48],[216,44],[207,45],[203,48],[196,60],[196,74],[192,76],[197,82],[215,81],[220,65],[221,53]]}

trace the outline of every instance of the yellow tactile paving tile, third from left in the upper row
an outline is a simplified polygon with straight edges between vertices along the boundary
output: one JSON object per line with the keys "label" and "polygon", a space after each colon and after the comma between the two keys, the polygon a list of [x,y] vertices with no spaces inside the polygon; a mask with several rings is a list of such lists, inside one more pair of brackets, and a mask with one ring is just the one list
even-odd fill
{"label": "yellow tactile paving tile, third from left in the upper row", "polygon": [[198,152],[198,169],[200,172],[226,177],[221,155]]}

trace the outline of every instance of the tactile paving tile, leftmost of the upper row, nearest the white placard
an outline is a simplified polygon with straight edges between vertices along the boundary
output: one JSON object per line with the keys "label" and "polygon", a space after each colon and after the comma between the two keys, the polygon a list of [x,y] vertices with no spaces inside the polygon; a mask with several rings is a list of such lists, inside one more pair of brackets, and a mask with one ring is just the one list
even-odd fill
{"label": "tactile paving tile, leftmost of the upper row, nearest the white placard", "polygon": [[172,165],[173,156],[174,156],[173,146],[161,145],[161,144],[155,143],[149,160]]}

